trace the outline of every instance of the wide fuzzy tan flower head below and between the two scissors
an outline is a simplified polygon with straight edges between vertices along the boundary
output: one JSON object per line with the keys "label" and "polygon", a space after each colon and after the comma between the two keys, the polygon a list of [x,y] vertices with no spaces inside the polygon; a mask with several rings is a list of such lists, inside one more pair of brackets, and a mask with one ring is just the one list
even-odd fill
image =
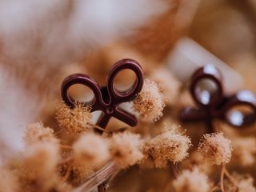
{"label": "wide fuzzy tan flower head below and between the two scissors", "polygon": [[190,146],[190,138],[169,130],[146,142],[143,153],[146,160],[150,160],[155,167],[161,168],[169,161],[181,162],[188,156],[187,151]]}

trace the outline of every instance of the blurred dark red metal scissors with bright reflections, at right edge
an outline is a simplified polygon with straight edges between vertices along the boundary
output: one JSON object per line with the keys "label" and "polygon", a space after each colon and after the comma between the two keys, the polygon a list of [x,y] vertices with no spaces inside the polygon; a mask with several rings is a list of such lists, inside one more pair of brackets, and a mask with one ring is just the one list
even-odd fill
{"label": "blurred dark red metal scissors with bright reflections, at right edge", "polygon": [[[202,80],[207,80],[214,85],[214,90],[202,89],[200,87]],[[194,72],[191,78],[190,94],[198,104],[198,108],[186,107],[182,110],[182,120],[205,121],[210,133],[214,132],[214,118],[222,119],[234,127],[248,126],[256,121],[256,94],[250,90],[240,90],[236,94],[225,95],[222,74],[213,65],[203,66]],[[236,110],[237,106],[247,106],[250,112]]]}

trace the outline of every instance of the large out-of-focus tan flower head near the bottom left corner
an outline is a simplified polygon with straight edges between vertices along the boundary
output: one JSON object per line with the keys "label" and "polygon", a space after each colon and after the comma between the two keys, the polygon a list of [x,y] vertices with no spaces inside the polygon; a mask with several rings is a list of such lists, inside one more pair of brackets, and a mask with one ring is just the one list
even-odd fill
{"label": "large out-of-focus tan flower head near the bottom left corner", "polygon": [[59,158],[58,145],[54,142],[38,142],[27,146],[24,153],[24,175],[28,179],[49,178],[54,174]]}

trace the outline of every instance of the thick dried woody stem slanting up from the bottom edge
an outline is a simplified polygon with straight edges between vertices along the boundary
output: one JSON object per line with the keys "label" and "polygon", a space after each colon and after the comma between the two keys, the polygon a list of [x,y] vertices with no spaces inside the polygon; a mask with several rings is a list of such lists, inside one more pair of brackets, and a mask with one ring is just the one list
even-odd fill
{"label": "thick dried woody stem slanting up from the bottom edge", "polygon": [[108,181],[114,174],[117,174],[119,167],[114,164],[114,162],[108,163],[101,170],[98,170],[95,174],[86,179],[86,182],[79,186],[77,189],[71,192],[89,192],[94,190],[95,187],[100,186],[102,183]]}

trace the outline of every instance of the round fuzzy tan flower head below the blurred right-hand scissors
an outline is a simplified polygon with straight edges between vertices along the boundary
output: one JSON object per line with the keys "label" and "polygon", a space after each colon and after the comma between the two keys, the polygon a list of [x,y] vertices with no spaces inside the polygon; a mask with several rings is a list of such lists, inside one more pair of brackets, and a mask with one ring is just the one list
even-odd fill
{"label": "round fuzzy tan flower head below the blurred right-hand scissors", "polygon": [[230,162],[231,141],[224,138],[222,132],[205,134],[198,146],[198,152],[210,165],[221,165]]}

